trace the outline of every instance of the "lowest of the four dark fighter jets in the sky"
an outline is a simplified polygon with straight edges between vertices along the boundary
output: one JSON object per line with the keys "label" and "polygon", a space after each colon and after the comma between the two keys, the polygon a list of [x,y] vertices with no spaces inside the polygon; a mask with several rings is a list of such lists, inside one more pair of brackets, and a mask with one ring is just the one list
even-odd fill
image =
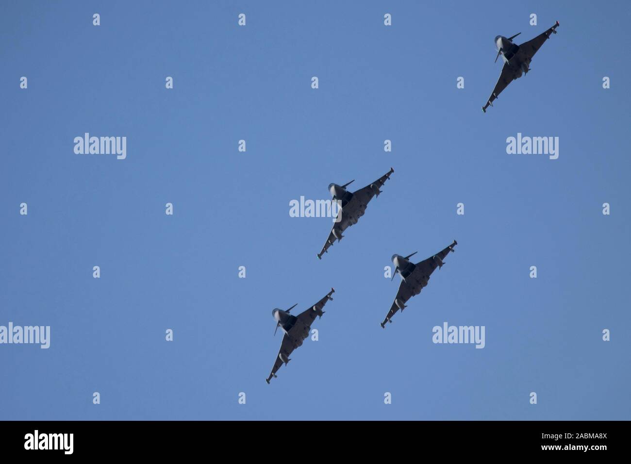
{"label": "lowest of the four dark fighter jets in the sky", "polygon": [[328,300],[333,301],[331,295],[333,295],[334,292],[335,289],[331,288],[331,291],[327,293],[324,298],[319,300],[319,302],[309,309],[305,309],[305,311],[298,314],[298,316],[292,316],[292,314],[289,314],[296,305],[293,305],[287,311],[283,311],[278,308],[272,311],[272,316],[276,321],[276,330],[274,330],[274,335],[276,335],[276,331],[278,331],[278,328],[280,327],[283,332],[285,332],[285,336],[283,336],[283,342],[280,345],[278,356],[276,356],[274,367],[272,367],[269,377],[265,379],[267,383],[269,383],[271,378],[276,377],[276,371],[278,371],[283,364],[290,362],[291,359],[289,356],[292,354],[293,350],[302,346],[303,340],[309,336],[309,330],[311,328],[311,324],[315,320],[315,316],[322,317],[322,314],[326,312],[322,311],[322,307],[324,307]]}

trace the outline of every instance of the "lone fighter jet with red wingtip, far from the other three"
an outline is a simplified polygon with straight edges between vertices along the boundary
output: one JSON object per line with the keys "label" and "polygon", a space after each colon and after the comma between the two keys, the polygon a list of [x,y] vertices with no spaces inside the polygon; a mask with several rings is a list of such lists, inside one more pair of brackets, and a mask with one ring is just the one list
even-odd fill
{"label": "lone fighter jet with red wingtip, far from the other three", "polygon": [[533,59],[534,54],[541,48],[543,42],[550,39],[550,34],[557,33],[558,21],[553,27],[541,33],[533,40],[528,40],[521,45],[514,44],[512,42],[517,35],[516,33],[512,37],[506,38],[503,35],[495,37],[495,47],[497,47],[497,56],[495,62],[500,55],[504,60],[504,68],[502,68],[502,74],[495,84],[493,93],[488,98],[487,104],[482,107],[483,112],[487,112],[487,108],[493,106],[493,100],[497,98],[502,90],[504,90],[513,80],[521,78],[522,74],[525,76],[530,71],[530,61]]}

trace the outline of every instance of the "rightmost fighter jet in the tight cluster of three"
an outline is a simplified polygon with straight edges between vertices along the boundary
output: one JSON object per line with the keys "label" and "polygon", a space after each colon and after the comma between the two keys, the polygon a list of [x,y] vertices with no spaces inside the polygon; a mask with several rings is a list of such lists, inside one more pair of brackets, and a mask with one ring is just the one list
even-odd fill
{"label": "rightmost fighter jet in the tight cluster of three", "polygon": [[399,275],[401,275],[401,285],[399,285],[399,291],[396,293],[396,297],[394,298],[394,302],[386,319],[381,323],[382,328],[386,328],[387,322],[392,323],[392,316],[394,316],[399,309],[403,312],[403,309],[407,307],[405,305],[407,300],[414,295],[420,294],[423,287],[425,287],[428,280],[430,280],[430,275],[432,275],[436,268],[442,268],[445,264],[443,259],[445,259],[445,256],[447,256],[450,251],[454,251],[454,246],[457,244],[458,242],[454,240],[454,242],[444,250],[416,264],[410,262],[410,258],[416,254],[416,251],[412,254],[408,254],[408,256],[401,256],[399,254],[392,256],[392,263],[396,266],[392,278],[394,279],[394,276],[399,273]]}

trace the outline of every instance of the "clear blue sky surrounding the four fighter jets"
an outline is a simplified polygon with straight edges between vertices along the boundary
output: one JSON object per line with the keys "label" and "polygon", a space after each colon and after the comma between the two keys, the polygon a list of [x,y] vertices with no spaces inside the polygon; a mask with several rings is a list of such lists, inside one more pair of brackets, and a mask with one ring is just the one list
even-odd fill
{"label": "clear blue sky surrounding the four fighter jets", "polygon": [[[0,345],[0,419],[631,419],[630,11],[3,1],[0,324],[49,325],[51,341]],[[555,20],[483,114],[493,38],[521,44]],[[85,132],[126,136],[126,160],[74,154]],[[558,136],[558,160],[508,155],[520,132]],[[289,201],[390,167],[318,261],[331,219],[292,218]],[[392,254],[453,239],[382,330]],[[331,287],[319,341],[266,384],[271,310]],[[433,344],[445,321],[485,326],[486,347]]]}

